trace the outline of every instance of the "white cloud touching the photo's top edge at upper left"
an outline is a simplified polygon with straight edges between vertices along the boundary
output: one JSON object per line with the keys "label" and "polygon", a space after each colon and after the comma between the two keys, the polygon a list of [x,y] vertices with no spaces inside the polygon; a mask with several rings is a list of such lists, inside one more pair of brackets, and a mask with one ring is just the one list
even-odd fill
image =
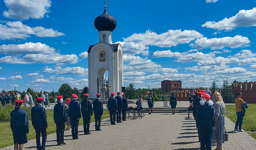
{"label": "white cloud touching the photo's top edge at upper left", "polygon": [[8,10],[3,16],[9,19],[28,20],[44,18],[51,7],[50,0],[4,0]]}

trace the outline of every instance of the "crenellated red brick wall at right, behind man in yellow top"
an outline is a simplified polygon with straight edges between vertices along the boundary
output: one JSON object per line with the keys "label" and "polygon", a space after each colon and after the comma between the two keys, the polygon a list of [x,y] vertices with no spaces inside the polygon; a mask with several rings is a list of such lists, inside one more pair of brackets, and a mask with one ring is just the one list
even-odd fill
{"label": "crenellated red brick wall at right, behind man in yellow top", "polygon": [[[235,87],[233,83],[231,87],[235,97]],[[242,99],[246,101],[246,103],[256,103],[256,81],[238,82],[237,92],[241,92],[243,94]]]}

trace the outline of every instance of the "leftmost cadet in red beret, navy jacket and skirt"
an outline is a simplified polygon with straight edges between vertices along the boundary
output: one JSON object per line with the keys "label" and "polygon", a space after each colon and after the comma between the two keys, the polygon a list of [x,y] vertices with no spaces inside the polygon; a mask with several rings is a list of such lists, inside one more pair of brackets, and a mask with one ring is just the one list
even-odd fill
{"label": "leftmost cadet in red beret, navy jacket and skirt", "polygon": [[12,129],[14,150],[23,150],[23,144],[27,143],[28,116],[21,109],[23,100],[15,100],[15,110],[10,113],[10,128]]}

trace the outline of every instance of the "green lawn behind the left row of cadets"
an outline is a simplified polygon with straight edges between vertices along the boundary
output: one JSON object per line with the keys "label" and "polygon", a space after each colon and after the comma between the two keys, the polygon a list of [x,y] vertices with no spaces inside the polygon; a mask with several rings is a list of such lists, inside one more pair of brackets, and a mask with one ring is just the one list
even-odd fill
{"label": "green lawn behind the left row of cadets", "polygon": [[[54,124],[53,120],[53,110],[46,111],[47,115],[47,123],[48,123],[48,129],[47,135],[52,134],[56,132],[56,126]],[[104,111],[101,119],[109,118],[108,111]],[[94,115],[91,116],[91,122],[94,122]],[[79,120],[79,125],[83,125],[83,118]],[[67,128],[67,126],[66,126]],[[27,134],[28,140],[31,140],[33,138],[36,138],[36,132],[32,126],[31,120],[29,121],[29,134]],[[6,146],[13,145],[13,137],[12,137],[12,130],[10,129],[10,122],[0,122],[0,149]]]}

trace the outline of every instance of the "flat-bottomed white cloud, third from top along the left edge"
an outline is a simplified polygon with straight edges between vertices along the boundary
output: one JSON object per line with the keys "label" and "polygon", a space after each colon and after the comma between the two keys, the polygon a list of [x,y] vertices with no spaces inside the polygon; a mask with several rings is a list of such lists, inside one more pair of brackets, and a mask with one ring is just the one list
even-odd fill
{"label": "flat-bottomed white cloud, third from top along the left edge", "polygon": [[54,48],[46,44],[38,43],[25,43],[25,44],[9,44],[0,46],[0,54],[56,54]]}

